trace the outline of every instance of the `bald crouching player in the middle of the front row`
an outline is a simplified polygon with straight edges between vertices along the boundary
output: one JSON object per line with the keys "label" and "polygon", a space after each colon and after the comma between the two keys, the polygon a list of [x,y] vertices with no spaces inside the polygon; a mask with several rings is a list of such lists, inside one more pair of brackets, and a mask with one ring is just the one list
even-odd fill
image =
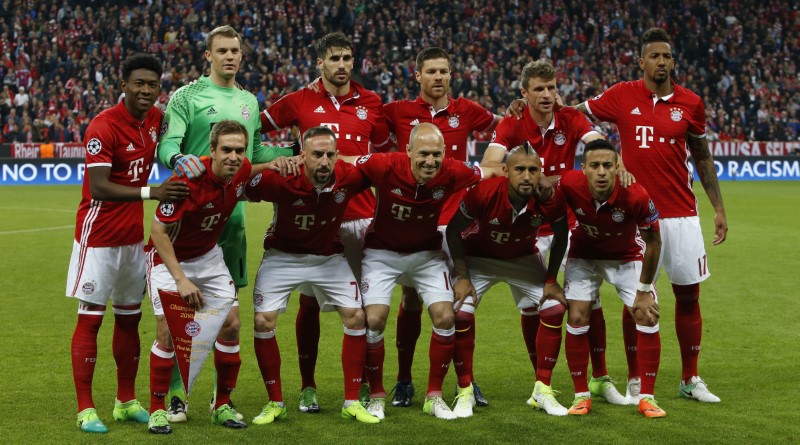
{"label": "bald crouching player in the middle of the front row", "polygon": [[[363,156],[356,166],[378,190],[375,219],[365,239],[361,280],[368,329],[367,409],[378,418],[384,417],[383,331],[392,288],[403,277],[419,291],[433,321],[423,410],[437,418],[454,419],[455,414],[442,400],[442,383],[455,347],[453,291],[441,250],[442,235],[436,227],[447,198],[476,184],[482,172],[445,157],[444,137],[430,123],[419,124],[411,131],[406,153]],[[472,400],[472,385],[464,392]]]}

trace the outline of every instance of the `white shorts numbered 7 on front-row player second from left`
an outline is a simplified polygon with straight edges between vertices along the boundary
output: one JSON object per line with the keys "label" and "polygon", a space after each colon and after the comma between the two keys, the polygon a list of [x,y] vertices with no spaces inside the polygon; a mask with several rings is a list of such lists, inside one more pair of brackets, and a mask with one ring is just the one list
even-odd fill
{"label": "white shorts numbered 7 on front-row player second from left", "polygon": [[264,252],[253,286],[255,312],[284,312],[293,290],[311,290],[322,311],[336,306],[360,308],[361,294],[344,255],[311,255]]}

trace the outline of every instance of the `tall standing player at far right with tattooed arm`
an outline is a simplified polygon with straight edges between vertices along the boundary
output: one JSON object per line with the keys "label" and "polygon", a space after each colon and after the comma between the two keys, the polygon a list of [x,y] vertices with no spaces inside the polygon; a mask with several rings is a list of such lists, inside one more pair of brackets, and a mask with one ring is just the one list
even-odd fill
{"label": "tall standing player at far right with tattooed arm", "polygon": [[[724,242],[728,235],[725,206],[706,139],[705,108],[695,93],[672,81],[675,61],[663,29],[652,28],[642,36],[639,67],[643,79],[618,83],[577,109],[617,125],[625,164],[621,169],[639,178],[661,211],[664,248],[655,276],[663,266],[675,294],[675,331],[683,364],[680,395],[719,402],[697,371],[703,333],[700,282],[710,273],[697,197],[692,192],[690,155],[714,207],[713,244]],[[627,323],[632,324],[629,317]]]}

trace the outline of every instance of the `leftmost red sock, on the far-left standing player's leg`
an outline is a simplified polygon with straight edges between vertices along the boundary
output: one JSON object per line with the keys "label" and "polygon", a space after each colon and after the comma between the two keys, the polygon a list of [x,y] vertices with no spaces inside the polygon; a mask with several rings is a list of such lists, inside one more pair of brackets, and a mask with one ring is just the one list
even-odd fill
{"label": "leftmost red sock, on the far-left standing player's leg", "polygon": [[97,333],[103,324],[105,306],[94,310],[94,314],[78,313],[78,323],[72,334],[72,380],[78,395],[78,412],[93,408],[92,378],[97,362]]}

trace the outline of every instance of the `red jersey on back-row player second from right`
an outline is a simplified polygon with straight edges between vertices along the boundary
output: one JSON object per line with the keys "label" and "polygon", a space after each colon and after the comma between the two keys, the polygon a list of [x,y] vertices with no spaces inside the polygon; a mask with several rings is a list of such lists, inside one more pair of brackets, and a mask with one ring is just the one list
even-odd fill
{"label": "red jersey on back-row player second from right", "polygon": [[[497,124],[492,143],[509,151],[528,141],[542,159],[542,172],[546,176],[552,176],[575,169],[575,150],[578,143],[592,132],[596,130],[583,113],[564,107],[553,112],[553,122],[543,136],[539,124],[533,120],[530,110],[525,106],[520,120],[506,116]],[[569,214],[569,226],[575,226],[575,217],[572,214]],[[539,230],[541,236],[552,234],[550,225]]]}

